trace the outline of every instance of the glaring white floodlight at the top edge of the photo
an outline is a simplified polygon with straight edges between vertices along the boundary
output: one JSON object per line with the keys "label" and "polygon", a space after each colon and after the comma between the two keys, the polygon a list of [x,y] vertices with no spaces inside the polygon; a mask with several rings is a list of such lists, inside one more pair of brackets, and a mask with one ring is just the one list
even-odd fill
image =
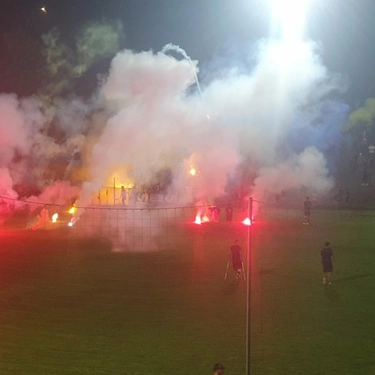
{"label": "glaring white floodlight at the top edge of the photo", "polygon": [[274,20],[280,23],[283,39],[302,37],[306,14],[312,0],[269,0]]}

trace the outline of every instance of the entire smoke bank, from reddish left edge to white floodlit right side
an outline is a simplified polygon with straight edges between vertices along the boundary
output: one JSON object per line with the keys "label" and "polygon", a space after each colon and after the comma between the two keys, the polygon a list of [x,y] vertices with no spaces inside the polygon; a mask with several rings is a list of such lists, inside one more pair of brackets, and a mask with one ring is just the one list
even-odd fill
{"label": "entire smoke bank, from reddish left edge to white floodlit right side", "polygon": [[70,184],[75,153],[86,179],[81,207],[113,177],[151,184],[166,169],[174,189],[210,201],[245,160],[256,168],[257,196],[263,189],[332,186],[317,149],[295,154],[287,143],[296,113],[336,88],[313,43],[260,43],[251,71],[218,71],[203,96],[194,91],[197,74],[197,61],[124,50],[93,100],[0,96],[2,191],[14,196],[14,185],[27,181],[42,191],[41,202],[60,202],[58,194],[69,199],[77,194]]}

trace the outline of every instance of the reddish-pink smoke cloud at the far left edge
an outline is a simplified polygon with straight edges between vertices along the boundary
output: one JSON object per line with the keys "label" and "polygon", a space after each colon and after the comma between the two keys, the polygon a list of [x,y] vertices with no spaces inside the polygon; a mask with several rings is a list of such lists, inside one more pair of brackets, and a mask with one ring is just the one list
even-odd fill
{"label": "reddish-pink smoke cloud at the far left edge", "polygon": [[[48,122],[41,108],[42,103],[36,98],[19,99],[14,94],[0,96],[0,196],[15,199],[20,191],[23,198],[31,196],[35,202],[62,204],[77,196],[79,188],[70,186],[68,181],[58,181],[59,158],[81,146],[84,137],[78,133],[61,143],[48,136]],[[34,196],[38,190],[42,194]],[[22,204],[11,206],[24,207]],[[9,207],[2,204],[1,210],[9,211]]]}

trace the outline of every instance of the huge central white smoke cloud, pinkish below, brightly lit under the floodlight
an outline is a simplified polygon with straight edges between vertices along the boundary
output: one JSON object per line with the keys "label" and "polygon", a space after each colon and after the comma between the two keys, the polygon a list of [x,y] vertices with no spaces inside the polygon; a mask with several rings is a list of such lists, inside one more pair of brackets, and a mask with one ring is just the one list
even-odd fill
{"label": "huge central white smoke cloud, pinkish below, brightly lit under the floodlight", "polygon": [[[133,181],[152,183],[158,170],[170,168],[179,189],[190,184],[197,199],[212,197],[223,193],[228,174],[244,157],[258,165],[256,189],[268,174],[270,181],[291,179],[270,182],[268,189],[328,189],[323,155],[313,149],[293,155],[285,143],[296,112],[335,87],[317,52],[307,42],[262,43],[253,71],[226,70],[205,87],[204,102],[191,93],[196,61],[120,52],[102,87],[116,110],[92,148],[82,203],[121,169]],[[199,171],[195,181],[187,180],[191,167]]]}

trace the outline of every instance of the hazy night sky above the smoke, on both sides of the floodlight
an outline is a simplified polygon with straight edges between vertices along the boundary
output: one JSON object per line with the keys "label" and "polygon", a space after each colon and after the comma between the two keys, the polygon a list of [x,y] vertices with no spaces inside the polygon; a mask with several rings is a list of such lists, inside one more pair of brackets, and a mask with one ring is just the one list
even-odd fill
{"label": "hazy night sky above the smoke, on both sides of the floodlight", "polygon": [[[296,0],[297,1],[297,0]],[[352,105],[375,96],[375,0],[313,0],[307,35],[329,70],[348,76]],[[3,0],[0,32],[35,36],[58,27],[66,38],[89,21],[120,20],[125,48],[159,51],[173,43],[201,66],[240,54],[269,36],[267,0]],[[48,14],[39,8],[46,6]]]}

